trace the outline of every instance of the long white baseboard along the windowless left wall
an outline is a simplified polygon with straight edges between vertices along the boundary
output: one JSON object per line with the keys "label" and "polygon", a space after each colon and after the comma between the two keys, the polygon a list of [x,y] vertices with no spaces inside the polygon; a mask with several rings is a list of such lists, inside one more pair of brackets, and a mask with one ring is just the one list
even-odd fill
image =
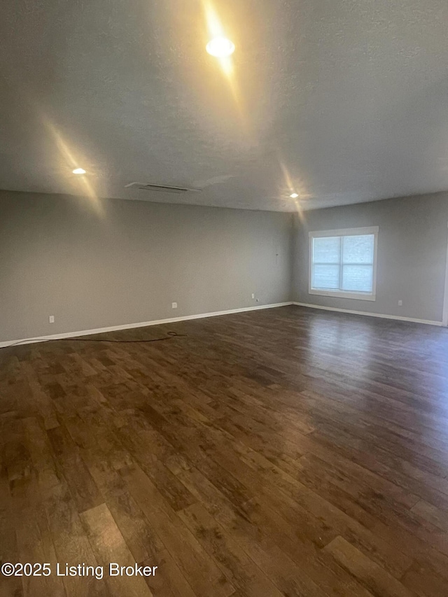
{"label": "long white baseboard along the windowless left wall", "polygon": [[230,315],[232,313],[243,313],[244,311],[258,311],[258,309],[273,309],[274,307],[286,307],[293,302],[278,302],[276,304],[262,304],[255,307],[243,307],[242,309],[228,309],[228,311],[215,311],[214,313],[201,313],[198,315],[186,315],[183,317],[170,317],[169,319],[156,319],[143,321],[141,323],[126,323],[125,325],[112,325],[110,328],[97,328],[95,330],[82,330],[80,332],[65,332],[51,336],[39,336],[34,338],[22,338],[20,340],[8,340],[0,342],[0,349],[13,344],[34,344],[34,342],[47,342],[48,340],[63,340],[76,338],[78,336],[89,336],[92,334],[104,334],[104,332],[118,332],[119,330],[132,330],[134,328],[146,328],[148,325],[160,325],[162,323],[176,323],[176,321],[188,321],[189,319],[202,319],[205,317],[216,317],[219,315]]}

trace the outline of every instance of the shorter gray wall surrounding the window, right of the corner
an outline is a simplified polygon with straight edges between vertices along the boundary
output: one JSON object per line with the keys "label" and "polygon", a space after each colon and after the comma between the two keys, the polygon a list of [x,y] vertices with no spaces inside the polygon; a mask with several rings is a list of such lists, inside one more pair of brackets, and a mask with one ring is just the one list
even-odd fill
{"label": "shorter gray wall surrounding the window, right of the corner", "polygon": [[[295,216],[293,300],[442,321],[447,223],[447,192],[305,211]],[[361,226],[379,226],[377,300],[310,295],[308,232]]]}

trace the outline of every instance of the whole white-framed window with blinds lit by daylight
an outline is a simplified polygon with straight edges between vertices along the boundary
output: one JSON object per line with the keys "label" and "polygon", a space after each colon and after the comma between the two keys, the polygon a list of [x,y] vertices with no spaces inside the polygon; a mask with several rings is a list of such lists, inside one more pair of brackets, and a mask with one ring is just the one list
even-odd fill
{"label": "whole white-framed window with blinds lit by daylight", "polygon": [[375,300],[378,230],[309,232],[309,293]]}

